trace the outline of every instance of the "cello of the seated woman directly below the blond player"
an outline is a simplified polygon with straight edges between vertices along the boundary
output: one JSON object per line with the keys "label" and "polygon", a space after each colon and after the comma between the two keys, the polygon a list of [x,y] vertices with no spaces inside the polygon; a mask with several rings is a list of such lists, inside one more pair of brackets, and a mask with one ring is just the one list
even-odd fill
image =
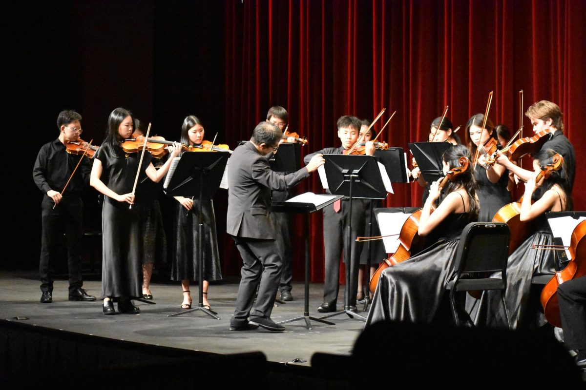
{"label": "cello of the seated woman directly below the blond player", "polygon": [[[556,153],[552,160],[551,164],[541,165],[541,171],[535,178],[536,183],[539,183],[542,178],[547,179],[552,172],[560,170],[564,164],[564,158],[561,157],[561,154]],[[522,222],[520,220],[521,202],[523,202],[523,196],[518,202],[502,206],[492,218],[492,222],[506,223],[509,225],[511,232],[515,233],[510,236],[509,254],[513,253],[522,243],[524,243],[524,241],[527,240],[535,230],[531,221]]]}

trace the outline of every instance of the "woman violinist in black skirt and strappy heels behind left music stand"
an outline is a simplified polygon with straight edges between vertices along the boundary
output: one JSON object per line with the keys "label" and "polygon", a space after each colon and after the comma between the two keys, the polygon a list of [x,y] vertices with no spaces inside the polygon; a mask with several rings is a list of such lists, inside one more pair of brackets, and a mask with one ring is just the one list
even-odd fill
{"label": "woman violinist in black skirt and strappy heels behind left music stand", "polygon": [[[181,127],[181,143],[192,147],[201,146],[205,129],[202,122],[193,115],[189,115],[183,120]],[[189,152],[187,152],[189,153]],[[222,152],[219,152],[222,153]],[[181,281],[183,289],[183,309],[191,308],[191,294],[189,291],[189,281],[197,280],[197,264],[199,258],[198,243],[200,237],[199,230],[199,205],[196,196],[184,198],[175,196],[178,201],[175,209],[175,225],[173,226],[173,237],[175,237],[175,246],[173,246],[173,265],[171,268],[171,280]],[[203,307],[210,309],[210,303],[207,301],[207,290],[209,281],[222,279],[222,269],[220,268],[220,255],[216,237],[216,217],[214,216],[214,206],[212,199],[204,199],[202,203],[203,219]]]}

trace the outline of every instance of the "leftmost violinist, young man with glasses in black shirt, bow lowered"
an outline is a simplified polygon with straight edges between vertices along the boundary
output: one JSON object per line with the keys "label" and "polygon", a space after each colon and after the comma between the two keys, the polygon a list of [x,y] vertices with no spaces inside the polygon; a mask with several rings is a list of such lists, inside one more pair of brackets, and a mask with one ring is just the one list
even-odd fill
{"label": "leftmost violinist, young man with glasses in black shirt, bow lowered", "polygon": [[[66,151],[68,142],[79,140],[82,131],[81,115],[71,110],[62,111],[57,117],[57,127],[59,137],[41,147],[33,168],[33,180],[46,195],[43,196],[41,203],[40,302],[53,302],[53,266],[63,232],[66,237],[69,266],[69,300],[96,301],[95,296],[88,295],[81,288],[81,191],[90,181],[90,162],[87,157],[83,158],[77,171],[71,176],[82,156]],[[67,184],[70,177],[71,180]],[[67,188],[63,191],[66,184]]]}

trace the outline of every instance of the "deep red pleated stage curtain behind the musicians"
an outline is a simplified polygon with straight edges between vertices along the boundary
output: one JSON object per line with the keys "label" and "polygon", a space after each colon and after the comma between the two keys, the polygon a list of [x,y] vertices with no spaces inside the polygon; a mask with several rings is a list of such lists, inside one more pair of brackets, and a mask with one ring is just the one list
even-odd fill
{"label": "deep red pleated stage curtain behind the musicians", "polygon": [[[449,105],[455,126],[484,112],[519,126],[523,110],[547,99],[564,113],[565,134],[582,161],[586,5],[582,0],[527,1],[226,1],[226,129],[231,144],[250,137],[268,108],[289,112],[289,129],[309,153],[339,146],[341,115],[373,119],[393,112],[382,140],[404,147],[427,139],[431,120]],[[384,122],[383,122],[384,123]],[[523,118],[524,135],[532,134]],[[375,126],[380,129],[381,125]],[[467,141],[466,134],[459,132]],[[586,177],[577,170],[577,183]],[[388,206],[420,204],[417,185],[394,185]],[[574,191],[576,209],[585,199]],[[321,192],[317,175],[298,188]],[[301,259],[301,221],[296,258]],[[322,215],[311,220],[312,281],[323,281]],[[226,248],[225,258],[236,250]],[[302,261],[294,264],[302,277]]]}

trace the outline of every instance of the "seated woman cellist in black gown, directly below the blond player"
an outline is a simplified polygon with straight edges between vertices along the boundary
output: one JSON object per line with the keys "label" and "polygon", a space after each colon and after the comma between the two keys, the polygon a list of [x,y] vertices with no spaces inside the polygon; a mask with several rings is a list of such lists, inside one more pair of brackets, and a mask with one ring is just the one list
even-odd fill
{"label": "seated woman cellist in black gown, directly below the blond player", "polygon": [[[541,171],[541,165],[552,163],[555,154],[553,150],[546,149],[533,156],[536,176]],[[534,233],[507,260],[505,302],[513,329],[537,328],[546,323],[545,316],[539,312],[539,302],[530,299],[531,279],[537,275],[553,276],[562,267],[557,264],[554,251],[534,249],[534,245],[554,244],[545,213],[571,210],[572,200],[564,192],[564,185],[567,185],[564,169],[551,172],[548,178],[539,183],[535,182],[535,178],[525,183],[520,220],[531,222]],[[517,233],[513,231],[511,234]],[[478,306],[474,320],[476,325],[507,326],[499,292],[484,292]]]}

